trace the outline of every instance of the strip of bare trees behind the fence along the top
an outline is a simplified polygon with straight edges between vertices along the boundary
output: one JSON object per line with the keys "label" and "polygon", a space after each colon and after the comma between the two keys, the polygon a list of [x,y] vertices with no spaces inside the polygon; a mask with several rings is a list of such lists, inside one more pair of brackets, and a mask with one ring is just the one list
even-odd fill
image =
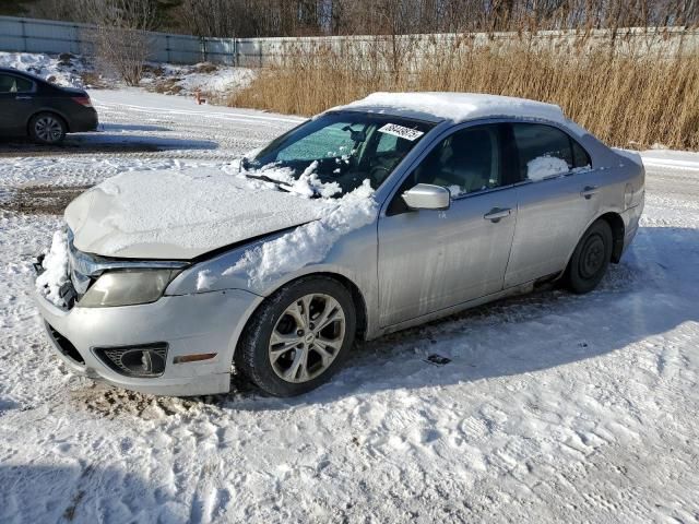
{"label": "strip of bare trees behind the fence along the top", "polygon": [[181,0],[166,5],[174,3],[35,0],[29,15],[223,37],[699,25],[699,0]]}

